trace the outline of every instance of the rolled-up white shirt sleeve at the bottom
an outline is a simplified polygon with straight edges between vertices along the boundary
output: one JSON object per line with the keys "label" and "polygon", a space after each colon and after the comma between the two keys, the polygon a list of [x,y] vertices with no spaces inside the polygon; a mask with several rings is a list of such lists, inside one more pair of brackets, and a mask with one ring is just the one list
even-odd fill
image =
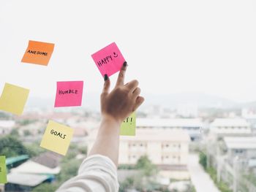
{"label": "rolled-up white shirt sleeve at the bottom", "polygon": [[91,155],[78,169],[78,175],[63,183],[56,192],[117,192],[116,165],[103,155]]}

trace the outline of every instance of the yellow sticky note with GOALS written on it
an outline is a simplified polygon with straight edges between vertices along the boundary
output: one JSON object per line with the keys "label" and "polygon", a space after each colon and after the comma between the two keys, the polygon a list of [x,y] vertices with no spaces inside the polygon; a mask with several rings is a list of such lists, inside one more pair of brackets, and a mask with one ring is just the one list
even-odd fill
{"label": "yellow sticky note with GOALS written on it", "polygon": [[73,132],[72,128],[49,120],[40,147],[66,155]]}

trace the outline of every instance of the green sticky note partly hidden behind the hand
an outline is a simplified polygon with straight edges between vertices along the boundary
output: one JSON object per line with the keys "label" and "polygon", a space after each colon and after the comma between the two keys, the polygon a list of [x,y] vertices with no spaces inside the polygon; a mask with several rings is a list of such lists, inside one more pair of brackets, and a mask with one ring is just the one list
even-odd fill
{"label": "green sticky note partly hidden behind the hand", "polygon": [[126,118],[123,123],[121,123],[120,135],[135,136],[136,131],[136,113],[133,112]]}

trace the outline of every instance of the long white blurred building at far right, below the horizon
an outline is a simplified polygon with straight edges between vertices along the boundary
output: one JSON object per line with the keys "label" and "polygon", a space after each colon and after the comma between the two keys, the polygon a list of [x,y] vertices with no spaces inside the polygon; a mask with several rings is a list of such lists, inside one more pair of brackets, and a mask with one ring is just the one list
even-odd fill
{"label": "long white blurred building at far right, below the horizon", "polygon": [[211,123],[210,131],[217,139],[252,136],[250,124],[244,118],[217,118]]}

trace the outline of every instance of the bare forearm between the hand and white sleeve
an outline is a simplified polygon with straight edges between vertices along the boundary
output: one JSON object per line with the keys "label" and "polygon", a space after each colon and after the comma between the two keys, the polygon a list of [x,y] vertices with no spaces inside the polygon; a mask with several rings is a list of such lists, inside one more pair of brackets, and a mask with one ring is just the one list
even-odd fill
{"label": "bare forearm between the hand and white sleeve", "polygon": [[97,139],[89,155],[99,154],[110,158],[118,166],[119,131],[121,122],[103,117],[99,126]]}

